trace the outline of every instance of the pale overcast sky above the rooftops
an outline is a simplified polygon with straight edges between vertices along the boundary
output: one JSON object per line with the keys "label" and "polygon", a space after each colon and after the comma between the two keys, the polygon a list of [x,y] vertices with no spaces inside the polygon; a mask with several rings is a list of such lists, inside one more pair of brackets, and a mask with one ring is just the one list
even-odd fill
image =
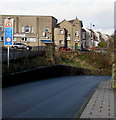
{"label": "pale overcast sky above the rooftops", "polygon": [[0,0],[0,14],[49,15],[62,20],[76,17],[85,28],[94,24],[94,30],[106,34],[114,32],[115,0]]}

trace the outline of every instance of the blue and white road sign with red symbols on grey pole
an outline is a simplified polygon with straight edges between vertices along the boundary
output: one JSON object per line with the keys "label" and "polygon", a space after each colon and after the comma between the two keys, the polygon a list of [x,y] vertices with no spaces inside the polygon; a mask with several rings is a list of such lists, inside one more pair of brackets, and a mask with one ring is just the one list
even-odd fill
{"label": "blue and white road sign with red symbols on grey pole", "polygon": [[13,19],[11,18],[5,19],[4,45],[8,46],[7,64],[9,67],[9,46],[13,45]]}

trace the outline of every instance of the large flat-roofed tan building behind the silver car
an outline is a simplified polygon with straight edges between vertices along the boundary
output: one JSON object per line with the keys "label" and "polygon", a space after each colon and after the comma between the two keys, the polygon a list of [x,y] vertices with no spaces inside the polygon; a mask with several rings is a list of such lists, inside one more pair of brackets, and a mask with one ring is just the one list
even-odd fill
{"label": "large flat-roofed tan building behind the silver car", "polygon": [[[54,42],[54,27],[57,19],[53,16],[2,15],[2,27],[6,18],[14,20],[14,42],[31,46],[46,46]],[[3,33],[2,29],[2,33]],[[1,40],[4,35],[2,34]]]}

